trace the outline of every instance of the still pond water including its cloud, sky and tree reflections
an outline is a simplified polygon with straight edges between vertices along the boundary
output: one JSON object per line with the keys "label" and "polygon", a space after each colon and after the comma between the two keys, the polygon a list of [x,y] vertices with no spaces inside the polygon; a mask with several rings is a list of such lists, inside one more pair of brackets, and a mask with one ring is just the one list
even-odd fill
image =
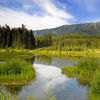
{"label": "still pond water including its cloud, sky and tree reflections", "polygon": [[57,100],[88,100],[88,86],[61,73],[62,66],[74,66],[78,62],[77,58],[36,56],[30,61],[37,72],[36,80],[24,86],[3,86],[5,93],[14,95],[16,92],[22,100],[30,96],[44,100],[47,94],[55,95]]}

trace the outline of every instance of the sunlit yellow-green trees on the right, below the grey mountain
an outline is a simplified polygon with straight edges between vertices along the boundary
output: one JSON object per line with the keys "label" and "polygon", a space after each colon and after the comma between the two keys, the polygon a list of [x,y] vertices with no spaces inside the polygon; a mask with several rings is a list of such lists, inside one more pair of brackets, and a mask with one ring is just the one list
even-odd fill
{"label": "sunlit yellow-green trees on the right, below the grey mountain", "polygon": [[86,49],[99,49],[100,36],[69,34],[53,37],[52,49],[60,51],[84,51]]}

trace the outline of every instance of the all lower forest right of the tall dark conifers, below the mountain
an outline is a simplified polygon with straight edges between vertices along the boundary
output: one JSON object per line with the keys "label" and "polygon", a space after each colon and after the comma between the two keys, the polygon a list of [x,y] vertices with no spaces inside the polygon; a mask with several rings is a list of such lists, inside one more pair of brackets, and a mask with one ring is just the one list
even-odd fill
{"label": "all lower forest right of the tall dark conifers, below the mountain", "polygon": [[[50,41],[48,41],[50,40]],[[47,44],[49,42],[49,45]],[[85,51],[87,49],[99,49],[100,48],[100,36],[99,35],[80,35],[69,34],[60,36],[43,35],[36,38],[36,46],[49,47],[51,51]]]}

